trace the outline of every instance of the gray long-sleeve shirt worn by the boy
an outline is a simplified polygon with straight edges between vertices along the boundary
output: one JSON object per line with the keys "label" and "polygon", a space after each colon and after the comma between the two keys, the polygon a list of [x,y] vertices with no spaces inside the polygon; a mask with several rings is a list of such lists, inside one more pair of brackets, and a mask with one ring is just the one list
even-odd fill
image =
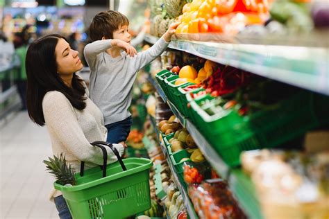
{"label": "gray long-sleeve shirt worn by the boy", "polygon": [[90,98],[101,109],[106,125],[130,116],[130,92],[137,71],[157,58],[168,44],[161,37],[150,49],[134,57],[123,51],[117,58],[106,53],[111,40],[97,40],[85,46],[84,55],[90,67]]}

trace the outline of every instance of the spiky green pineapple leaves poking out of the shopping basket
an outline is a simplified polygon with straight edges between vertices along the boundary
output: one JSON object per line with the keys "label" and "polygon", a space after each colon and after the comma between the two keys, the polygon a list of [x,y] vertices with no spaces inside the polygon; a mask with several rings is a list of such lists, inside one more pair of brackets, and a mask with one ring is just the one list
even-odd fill
{"label": "spiky green pineapple leaves poking out of the shopping basket", "polygon": [[71,167],[71,164],[67,165],[65,155],[62,153],[60,157],[53,155],[53,158],[48,157],[49,161],[44,160],[43,163],[46,164],[46,168],[56,177],[58,184],[66,185],[71,184],[72,186],[76,185],[76,178],[74,177],[74,170]]}

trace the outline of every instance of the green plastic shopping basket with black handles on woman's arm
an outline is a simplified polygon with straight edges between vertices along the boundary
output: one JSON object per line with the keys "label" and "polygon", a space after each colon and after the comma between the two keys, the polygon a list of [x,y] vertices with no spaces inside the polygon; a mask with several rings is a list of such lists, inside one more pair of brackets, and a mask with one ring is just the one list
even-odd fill
{"label": "green plastic shopping basket with black handles on woman's arm", "polygon": [[95,141],[92,145],[103,151],[103,166],[108,158],[103,145],[111,148],[119,162],[88,170],[84,170],[84,162],[81,162],[81,172],[75,175],[76,185],[62,186],[54,182],[55,189],[62,192],[67,202],[71,216],[75,219],[119,219],[150,209],[149,169],[153,166],[152,161],[121,159],[111,143]]}

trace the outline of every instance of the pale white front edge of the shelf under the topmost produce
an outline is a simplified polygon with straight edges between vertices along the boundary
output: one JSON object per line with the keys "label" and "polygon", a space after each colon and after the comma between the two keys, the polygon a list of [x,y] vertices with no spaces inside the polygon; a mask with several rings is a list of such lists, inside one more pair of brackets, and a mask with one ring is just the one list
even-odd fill
{"label": "pale white front edge of the shelf under the topmost produce", "polygon": [[[154,44],[158,37],[146,35]],[[169,48],[329,96],[329,48],[172,40]]]}

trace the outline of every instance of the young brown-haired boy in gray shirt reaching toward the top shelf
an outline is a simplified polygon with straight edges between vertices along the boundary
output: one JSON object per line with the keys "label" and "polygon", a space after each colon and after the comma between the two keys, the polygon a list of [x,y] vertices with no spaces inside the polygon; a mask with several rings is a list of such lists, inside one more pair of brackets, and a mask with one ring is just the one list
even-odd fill
{"label": "young brown-haired boy in gray shirt reaching toward the top shelf", "polygon": [[90,98],[103,112],[108,142],[126,141],[132,123],[128,111],[130,91],[137,71],[167,49],[178,24],[171,24],[150,49],[137,53],[130,45],[129,21],[125,15],[108,10],[92,20],[90,37],[93,42],[85,46],[84,55],[90,67]]}

